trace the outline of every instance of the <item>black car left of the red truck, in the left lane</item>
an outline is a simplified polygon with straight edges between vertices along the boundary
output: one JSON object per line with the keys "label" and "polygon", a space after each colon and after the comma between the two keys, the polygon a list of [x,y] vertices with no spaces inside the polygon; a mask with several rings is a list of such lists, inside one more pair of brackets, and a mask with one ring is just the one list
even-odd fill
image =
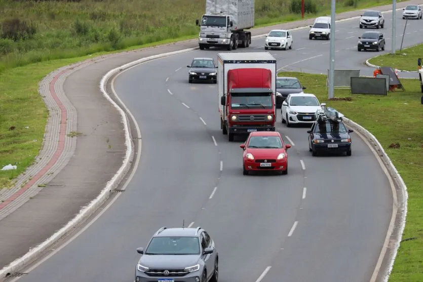
{"label": "black car left of the red truck, in the left lane", "polygon": [[213,82],[217,83],[217,66],[212,58],[194,58],[188,72],[188,82]]}

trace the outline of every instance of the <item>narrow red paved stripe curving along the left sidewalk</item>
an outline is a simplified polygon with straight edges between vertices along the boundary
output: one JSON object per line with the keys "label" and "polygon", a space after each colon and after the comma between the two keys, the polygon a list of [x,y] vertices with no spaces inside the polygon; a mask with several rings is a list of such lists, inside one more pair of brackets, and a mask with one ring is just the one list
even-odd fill
{"label": "narrow red paved stripe curving along the left sidewalk", "polygon": [[65,146],[65,138],[66,138],[66,125],[67,125],[67,110],[65,106],[60,101],[59,97],[57,96],[56,91],[54,90],[54,85],[57,81],[57,79],[67,71],[67,69],[61,71],[59,74],[57,74],[53,80],[50,82],[50,93],[56,101],[56,104],[60,108],[60,131],[59,131],[59,144],[57,146],[56,151],[53,154],[53,157],[50,159],[50,162],[43,168],[41,171],[39,171],[30,181],[28,181],[25,186],[20,188],[18,191],[16,191],[13,195],[11,195],[9,198],[7,198],[3,203],[0,203],[0,210],[5,208],[8,204],[13,202],[15,199],[17,199],[20,195],[22,195],[26,190],[28,190],[37,180],[39,180],[46,172],[51,169],[54,164],[56,164],[57,160],[61,156],[63,152],[63,148]]}

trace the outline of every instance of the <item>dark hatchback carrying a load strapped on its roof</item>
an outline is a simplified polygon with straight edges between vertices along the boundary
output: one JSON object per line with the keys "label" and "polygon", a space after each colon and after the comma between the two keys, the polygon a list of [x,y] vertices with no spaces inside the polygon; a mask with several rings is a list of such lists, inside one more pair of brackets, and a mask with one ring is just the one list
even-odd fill
{"label": "dark hatchback carrying a load strapped on its roof", "polygon": [[309,151],[313,156],[319,152],[345,152],[351,156],[352,129],[347,129],[342,122],[324,120],[315,122],[309,133]]}

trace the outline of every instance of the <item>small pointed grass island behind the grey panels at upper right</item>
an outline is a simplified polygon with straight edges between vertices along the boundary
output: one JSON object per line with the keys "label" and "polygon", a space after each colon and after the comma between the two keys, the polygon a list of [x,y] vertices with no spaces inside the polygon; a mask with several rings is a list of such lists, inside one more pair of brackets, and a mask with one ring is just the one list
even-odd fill
{"label": "small pointed grass island behind the grey panels at upper right", "polygon": [[369,60],[376,66],[387,66],[400,70],[417,70],[417,59],[423,59],[423,44],[397,51],[395,55],[385,54]]}

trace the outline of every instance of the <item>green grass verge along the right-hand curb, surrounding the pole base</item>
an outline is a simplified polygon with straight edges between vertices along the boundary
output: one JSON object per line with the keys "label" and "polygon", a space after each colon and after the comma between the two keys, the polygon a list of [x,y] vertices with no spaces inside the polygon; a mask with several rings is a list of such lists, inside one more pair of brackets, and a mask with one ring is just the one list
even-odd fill
{"label": "green grass verge along the right-hand curb, surrounding the pole base", "polygon": [[[395,260],[390,282],[423,281],[423,111],[418,79],[402,79],[406,92],[387,96],[351,95],[335,89],[335,97],[351,101],[329,101],[326,75],[281,72],[279,76],[298,77],[321,103],[334,107],[370,131],[388,153],[408,190],[408,213],[403,239]],[[363,112],[370,113],[362,114]],[[389,148],[399,143],[400,148]]]}

